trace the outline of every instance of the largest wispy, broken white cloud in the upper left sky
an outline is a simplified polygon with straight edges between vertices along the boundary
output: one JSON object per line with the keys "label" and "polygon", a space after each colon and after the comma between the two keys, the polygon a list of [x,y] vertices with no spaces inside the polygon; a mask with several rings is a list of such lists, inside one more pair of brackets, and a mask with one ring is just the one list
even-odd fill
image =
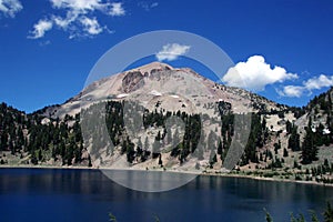
{"label": "largest wispy, broken white cloud in the upper left sky", "polygon": [[[125,14],[125,10],[121,2],[110,2],[108,0],[50,0],[51,6],[59,12],[65,12],[65,16],[52,13],[49,16],[49,22],[52,27],[70,33],[69,38],[75,37],[93,37],[103,31],[110,31],[107,26],[101,26],[97,12],[120,17]],[[36,26],[32,33],[38,33]],[[42,38],[34,36],[33,39]]]}

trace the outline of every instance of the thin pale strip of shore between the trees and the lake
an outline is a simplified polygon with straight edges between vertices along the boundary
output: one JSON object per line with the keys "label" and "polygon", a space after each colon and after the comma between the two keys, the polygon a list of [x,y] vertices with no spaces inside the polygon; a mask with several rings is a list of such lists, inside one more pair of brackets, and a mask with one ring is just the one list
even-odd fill
{"label": "thin pale strip of shore between the trees and the lake", "polygon": [[176,171],[176,170],[162,170],[162,169],[127,169],[127,168],[95,168],[95,167],[60,167],[60,165],[0,165],[1,169],[48,169],[48,170],[128,170],[128,171],[154,171],[154,172],[172,172],[172,173],[188,173],[188,174],[196,174],[196,175],[208,175],[208,176],[222,176],[222,178],[241,178],[241,179],[251,179],[256,181],[271,181],[271,182],[286,182],[286,183],[300,183],[307,185],[321,185],[321,186],[330,186],[333,188],[333,183],[319,183],[315,181],[300,181],[300,180],[290,180],[290,179],[276,179],[276,178],[264,178],[264,176],[255,176],[255,175],[245,175],[239,173],[214,173],[214,172],[194,172],[194,171]]}

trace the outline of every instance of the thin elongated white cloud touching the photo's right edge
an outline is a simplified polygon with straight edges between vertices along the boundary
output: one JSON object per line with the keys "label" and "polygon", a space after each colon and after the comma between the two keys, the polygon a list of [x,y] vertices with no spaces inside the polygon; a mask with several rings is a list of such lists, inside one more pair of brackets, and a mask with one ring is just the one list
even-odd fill
{"label": "thin elongated white cloud touching the photo's right edge", "polygon": [[282,97],[295,97],[300,98],[304,92],[309,94],[312,93],[312,90],[320,90],[322,88],[333,85],[333,75],[327,77],[321,74],[319,77],[311,78],[306,81],[303,81],[302,85],[285,85],[282,90],[276,90],[276,92]]}

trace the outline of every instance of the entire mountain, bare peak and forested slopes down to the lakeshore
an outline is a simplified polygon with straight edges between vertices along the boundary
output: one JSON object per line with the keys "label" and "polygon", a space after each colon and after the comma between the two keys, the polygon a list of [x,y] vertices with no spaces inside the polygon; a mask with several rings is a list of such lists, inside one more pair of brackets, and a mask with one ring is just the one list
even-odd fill
{"label": "entire mountain, bare peak and forested slopes down to the lakeshore", "polygon": [[332,91],[291,108],[153,62],[32,114],[2,103],[0,161],[330,182]]}

